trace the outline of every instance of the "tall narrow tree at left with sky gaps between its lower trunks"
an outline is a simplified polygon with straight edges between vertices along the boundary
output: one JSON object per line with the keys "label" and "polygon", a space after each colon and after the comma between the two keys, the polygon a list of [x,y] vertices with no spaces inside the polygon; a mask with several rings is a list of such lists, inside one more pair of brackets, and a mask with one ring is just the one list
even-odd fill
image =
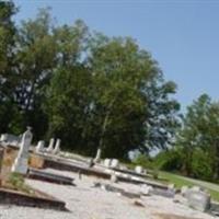
{"label": "tall narrow tree at left with sky gaps between its lower trunks", "polygon": [[16,44],[19,84],[14,92],[15,102],[23,115],[23,126],[33,126],[35,136],[42,137],[47,129],[47,118],[42,110],[44,87],[50,80],[57,59],[48,9],[39,10],[35,20],[22,22]]}

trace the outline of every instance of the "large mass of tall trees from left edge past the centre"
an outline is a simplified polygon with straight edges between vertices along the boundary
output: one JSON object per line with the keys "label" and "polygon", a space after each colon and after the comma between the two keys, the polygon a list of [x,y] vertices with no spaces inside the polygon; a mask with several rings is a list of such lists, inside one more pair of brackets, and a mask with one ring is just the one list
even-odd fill
{"label": "large mass of tall trees from left edge past the centre", "polygon": [[14,24],[0,1],[0,132],[32,126],[35,140],[127,159],[165,149],[178,126],[176,85],[130,37],[107,37],[80,20],[58,25],[49,10]]}

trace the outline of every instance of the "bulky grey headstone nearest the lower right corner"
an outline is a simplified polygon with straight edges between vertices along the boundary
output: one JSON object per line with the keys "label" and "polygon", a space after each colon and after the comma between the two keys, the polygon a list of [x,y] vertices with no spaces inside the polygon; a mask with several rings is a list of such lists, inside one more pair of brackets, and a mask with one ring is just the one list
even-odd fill
{"label": "bulky grey headstone nearest the lower right corner", "polygon": [[207,193],[189,189],[186,198],[188,206],[196,210],[206,211],[210,208],[210,195]]}

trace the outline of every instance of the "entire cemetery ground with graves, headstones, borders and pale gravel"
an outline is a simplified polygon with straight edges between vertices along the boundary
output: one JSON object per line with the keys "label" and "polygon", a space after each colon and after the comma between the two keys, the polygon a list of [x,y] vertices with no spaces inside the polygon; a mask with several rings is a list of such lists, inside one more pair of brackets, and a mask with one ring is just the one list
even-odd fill
{"label": "entire cemetery ground with graves, headstones, borders and pale gravel", "polygon": [[[198,186],[154,181],[150,171],[117,159],[87,158],[61,150],[60,139],[33,145],[31,127],[1,136],[0,210],[45,218],[211,219],[218,204]],[[10,214],[11,215],[11,214]]]}

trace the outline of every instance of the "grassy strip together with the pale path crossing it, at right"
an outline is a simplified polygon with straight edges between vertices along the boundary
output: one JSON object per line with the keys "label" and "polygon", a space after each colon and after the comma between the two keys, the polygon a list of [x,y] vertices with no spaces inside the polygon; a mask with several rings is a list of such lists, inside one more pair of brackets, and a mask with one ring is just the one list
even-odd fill
{"label": "grassy strip together with the pale path crossing it, at right", "polygon": [[168,173],[168,172],[159,172],[159,176],[163,180],[168,180],[168,183],[173,183],[176,186],[176,188],[181,188],[183,185],[187,185],[187,186],[198,185],[198,186],[205,187],[210,193],[212,199],[219,201],[219,185],[217,184],[187,178],[187,177],[180,176],[173,173]]}

